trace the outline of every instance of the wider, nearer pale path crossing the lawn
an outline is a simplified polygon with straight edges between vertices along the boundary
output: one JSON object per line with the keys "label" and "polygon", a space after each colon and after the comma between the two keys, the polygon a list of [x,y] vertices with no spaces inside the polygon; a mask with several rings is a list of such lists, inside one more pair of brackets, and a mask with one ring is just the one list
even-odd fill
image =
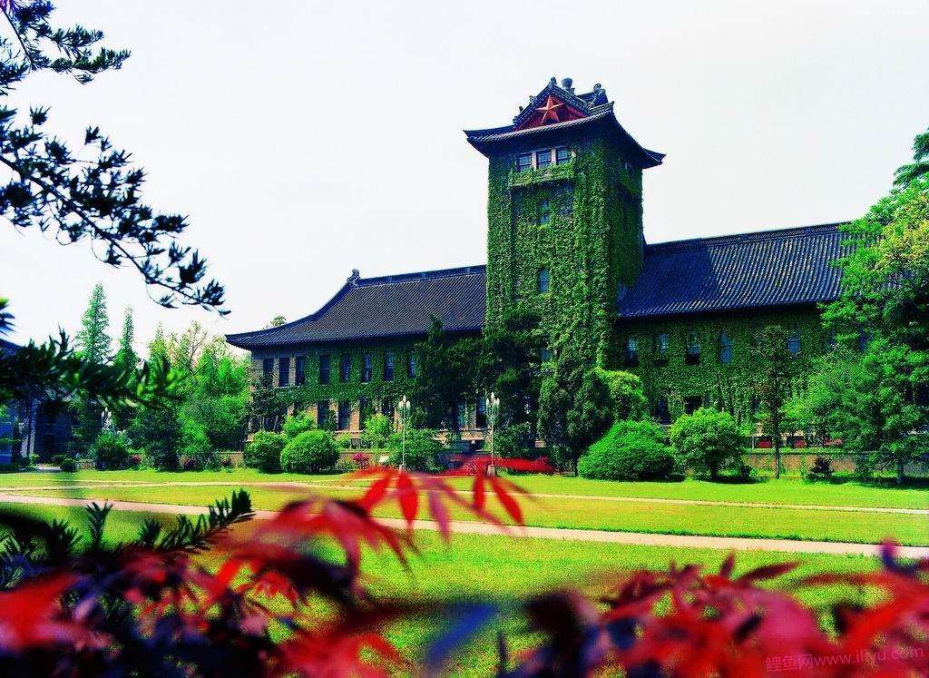
{"label": "wider, nearer pale path crossing the lawn", "polygon": [[[137,511],[151,513],[173,513],[197,515],[205,512],[202,506],[183,504],[157,504],[142,501],[113,501],[110,499],[60,499],[56,497],[34,497],[29,495],[0,494],[0,503],[39,504],[45,506],[83,507],[89,501],[111,503],[117,511]],[[255,511],[255,518],[268,520],[275,515],[273,511]],[[406,522],[399,518],[379,518],[384,525],[403,528]],[[438,525],[432,521],[418,520],[413,523],[418,530],[437,531]],[[845,541],[801,541],[794,539],[765,539],[739,537],[698,537],[690,535],[663,535],[648,532],[610,532],[607,530],[580,530],[556,527],[500,527],[487,523],[456,521],[451,523],[451,531],[458,534],[501,535],[509,534],[521,538],[564,539],[567,541],[598,541],[612,544],[635,544],[640,546],[671,546],[690,549],[721,549],[725,551],[772,551],[784,553],[834,553],[876,555],[878,546]],[[929,557],[929,547],[901,546],[900,555],[907,558]]]}

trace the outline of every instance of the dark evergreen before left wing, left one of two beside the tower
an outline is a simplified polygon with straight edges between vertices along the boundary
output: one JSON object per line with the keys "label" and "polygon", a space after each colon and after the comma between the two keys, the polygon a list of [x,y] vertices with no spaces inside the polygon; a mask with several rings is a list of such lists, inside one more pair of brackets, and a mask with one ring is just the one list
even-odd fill
{"label": "dark evergreen before left wing, left one of two beside the tower", "polygon": [[476,395],[478,341],[449,336],[433,317],[418,350],[410,399],[426,427],[458,432],[458,406]]}

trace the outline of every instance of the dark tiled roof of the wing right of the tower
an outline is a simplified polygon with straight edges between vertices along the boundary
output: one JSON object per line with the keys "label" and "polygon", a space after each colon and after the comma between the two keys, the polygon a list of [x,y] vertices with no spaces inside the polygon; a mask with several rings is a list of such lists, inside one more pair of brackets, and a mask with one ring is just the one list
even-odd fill
{"label": "dark tiled roof of the wing right of the tower", "polygon": [[646,246],[623,318],[717,312],[836,299],[841,224],[695,238]]}

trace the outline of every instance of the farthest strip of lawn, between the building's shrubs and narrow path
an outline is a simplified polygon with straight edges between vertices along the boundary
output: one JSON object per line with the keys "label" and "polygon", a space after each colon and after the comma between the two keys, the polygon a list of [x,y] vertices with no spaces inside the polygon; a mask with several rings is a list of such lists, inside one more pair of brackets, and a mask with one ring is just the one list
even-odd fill
{"label": "farthest strip of lawn, between the building's shrubs and narrow path", "polygon": [[[513,478],[531,492],[603,497],[648,499],[700,499],[772,504],[810,504],[816,506],[862,506],[905,509],[929,509],[929,491],[924,487],[862,485],[854,481],[836,483],[805,483],[797,479],[765,480],[757,483],[710,483],[699,480],[668,483],[622,483],[586,480],[557,475],[525,475]],[[345,475],[301,475],[298,473],[268,474],[251,469],[220,472],[156,472],[119,471],[75,473],[7,473],[0,475],[0,487],[54,485],[73,482],[220,482],[234,485],[252,482],[306,482],[312,484],[354,482]],[[453,481],[467,487],[469,479]]]}

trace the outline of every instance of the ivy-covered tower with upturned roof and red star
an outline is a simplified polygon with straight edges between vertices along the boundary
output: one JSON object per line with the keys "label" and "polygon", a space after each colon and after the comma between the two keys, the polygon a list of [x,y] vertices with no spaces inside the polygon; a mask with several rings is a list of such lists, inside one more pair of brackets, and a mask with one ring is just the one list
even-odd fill
{"label": "ivy-covered tower with upturned roof and red star", "polygon": [[466,130],[490,160],[487,325],[507,309],[540,312],[554,349],[615,362],[618,299],[642,269],[643,148],[606,90],[576,94],[553,77],[513,124]]}

